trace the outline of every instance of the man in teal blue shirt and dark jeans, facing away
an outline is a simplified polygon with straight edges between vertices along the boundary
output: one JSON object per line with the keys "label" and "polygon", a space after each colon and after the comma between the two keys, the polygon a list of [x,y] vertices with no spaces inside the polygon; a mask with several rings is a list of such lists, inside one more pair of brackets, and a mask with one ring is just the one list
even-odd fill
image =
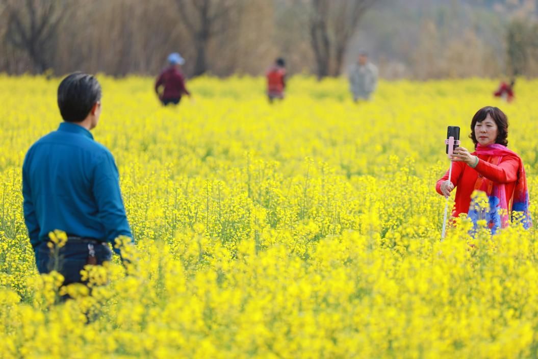
{"label": "man in teal blue shirt and dark jeans, facing away", "polygon": [[[58,270],[67,285],[81,281],[84,265],[110,261],[107,242],[132,234],[114,157],[90,133],[101,115],[101,85],[88,74],[68,75],[58,87],[58,107],[64,122],[26,153],[23,208],[39,272]],[[60,268],[53,268],[47,247],[55,229],[68,235]]]}

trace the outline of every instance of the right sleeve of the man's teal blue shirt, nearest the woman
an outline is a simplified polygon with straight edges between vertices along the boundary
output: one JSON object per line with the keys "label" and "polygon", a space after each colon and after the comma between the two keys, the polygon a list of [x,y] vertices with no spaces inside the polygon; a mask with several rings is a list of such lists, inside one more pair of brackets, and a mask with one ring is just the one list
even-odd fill
{"label": "right sleeve of the man's teal blue shirt, nearest the woman", "polygon": [[[116,237],[121,235],[132,239],[119,188],[118,168],[110,153],[103,156],[95,166],[93,192],[97,202],[97,216],[103,224],[107,242],[114,244]],[[115,251],[119,254],[116,249]]]}

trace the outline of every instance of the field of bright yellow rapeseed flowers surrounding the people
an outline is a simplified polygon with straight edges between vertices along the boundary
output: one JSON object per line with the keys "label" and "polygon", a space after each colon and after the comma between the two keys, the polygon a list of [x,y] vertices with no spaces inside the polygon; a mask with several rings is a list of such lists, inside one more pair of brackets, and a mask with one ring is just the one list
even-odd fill
{"label": "field of bright yellow rapeseed flowers surrounding the people", "polygon": [[472,115],[498,105],[538,221],[538,81],[512,104],[481,79],[381,82],[355,104],[345,79],[295,77],[270,105],[261,78],[200,78],[163,108],[152,79],[98,78],[94,136],[137,245],[84,273],[88,295],[37,274],[22,215],[60,79],[0,75],[0,358],[538,356],[535,228],[471,238],[462,219],[441,241],[434,189],[447,125],[472,149]]}

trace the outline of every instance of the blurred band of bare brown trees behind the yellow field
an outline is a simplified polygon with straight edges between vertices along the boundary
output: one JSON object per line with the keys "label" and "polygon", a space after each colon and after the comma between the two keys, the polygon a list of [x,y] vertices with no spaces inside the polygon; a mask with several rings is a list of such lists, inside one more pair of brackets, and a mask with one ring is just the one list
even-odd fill
{"label": "blurred band of bare brown trees behind the yellow field", "polygon": [[365,49],[385,78],[536,76],[530,3],[0,0],[0,72],[157,74],[177,51],[189,76],[257,75],[282,56],[323,78]]}

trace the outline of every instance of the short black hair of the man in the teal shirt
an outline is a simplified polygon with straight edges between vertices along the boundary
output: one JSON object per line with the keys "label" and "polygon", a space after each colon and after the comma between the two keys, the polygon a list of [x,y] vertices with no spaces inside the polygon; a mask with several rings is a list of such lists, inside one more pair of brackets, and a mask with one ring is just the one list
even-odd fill
{"label": "short black hair of the man in the teal shirt", "polygon": [[58,86],[58,107],[63,121],[83,121],[98,101],[101,101],[101,85],[92,75],[75,72]]}

